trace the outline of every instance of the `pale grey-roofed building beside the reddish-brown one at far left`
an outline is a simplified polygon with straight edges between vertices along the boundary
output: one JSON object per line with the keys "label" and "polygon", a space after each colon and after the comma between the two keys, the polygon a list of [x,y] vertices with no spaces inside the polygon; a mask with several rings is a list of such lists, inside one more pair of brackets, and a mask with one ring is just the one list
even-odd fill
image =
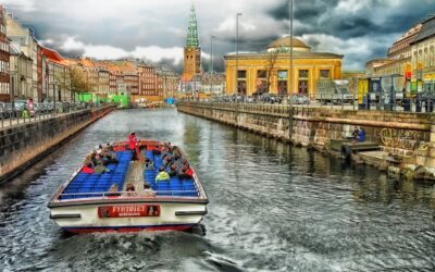
{"label": "pale grey-roofed building beside the reddish-brown one at far left", "polygon": [[[38,98],[38,73],[37,73],[37,61],[38,61],[38,41],[35,38],[34,30],[27,27],[23,27],[22,24],[12,16],[10,13],[4,13],[5,20],[5,28],[7,36],[10,39],[11,45],[15,50],[23,53],[25,57],[32,60],[32,77],[26,77],[28,81],[25,85],[30,86],[29,89],[26,89],[24,96],[32,97],[35,101],[40,100]],[[18,60],[17,58],[13,58],[13,61]],[[17,66],[16,63],[11,63],[12,67]],[[14,78],[15,79],[15,78]],[[21,78],[20,78],[21,81]],[[13,85],[13,94],[18,94],[18,87],[23,83],[14,83]],[[22,89],[20,91],[23,91]]]}

